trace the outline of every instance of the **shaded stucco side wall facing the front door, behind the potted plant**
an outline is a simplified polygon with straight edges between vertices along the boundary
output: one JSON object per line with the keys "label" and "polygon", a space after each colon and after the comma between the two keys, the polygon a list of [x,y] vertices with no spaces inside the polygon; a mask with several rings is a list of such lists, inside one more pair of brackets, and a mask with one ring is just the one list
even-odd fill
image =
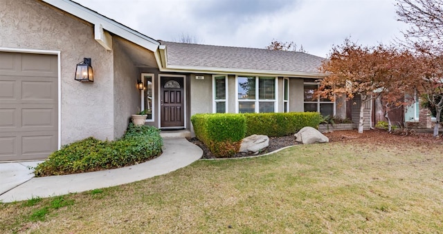
{"label": "shaded stucco side wall facing the front door, behind the potted plant", "polygon": [[[123,40],[114,37],[114,138],[123,136],[131,115],[141,106],[141,93],[136,83],[141,79],[138,68],[118,43]],[[146,51],[150,52],[150,51]]]}

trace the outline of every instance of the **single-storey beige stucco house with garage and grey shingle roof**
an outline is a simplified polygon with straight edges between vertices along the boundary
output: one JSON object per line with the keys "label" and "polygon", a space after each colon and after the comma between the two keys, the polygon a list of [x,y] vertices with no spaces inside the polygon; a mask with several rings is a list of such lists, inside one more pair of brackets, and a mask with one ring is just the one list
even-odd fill
{"label": "single-storey beige stucco house with garage and grey shingle roof", "polygon": [[[195,113],[345,115],[313,99],[321,57],[156,41],[69,0],[2,0],[0,15],[0,161],[117,139],[143,109],[147,124],[189,130]],[[74,80],[83,58],[93,82]]]}

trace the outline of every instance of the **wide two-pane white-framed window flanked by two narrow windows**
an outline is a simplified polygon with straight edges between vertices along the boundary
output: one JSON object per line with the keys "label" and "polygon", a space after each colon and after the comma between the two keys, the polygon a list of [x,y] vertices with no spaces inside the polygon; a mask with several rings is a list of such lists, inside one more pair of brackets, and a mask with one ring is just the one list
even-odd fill
{"label": "wide two-pane white-framed window flanked by two narrow windows", "polygon": [[278,112],[277,77],[235,77],[236,113]]}

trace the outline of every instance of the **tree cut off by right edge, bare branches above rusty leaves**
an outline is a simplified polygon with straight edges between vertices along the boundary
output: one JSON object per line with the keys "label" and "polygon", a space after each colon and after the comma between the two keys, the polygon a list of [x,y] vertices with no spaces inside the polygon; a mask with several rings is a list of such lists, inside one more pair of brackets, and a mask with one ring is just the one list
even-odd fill
{"label": "tree cut off by right edge, bare branches above rusty leaves", "polygon": [[417,90],[435,108],[437,136],[443,108],[443,0],[397,0],[397,15],[410,25],[403,32],[404,44],[421,54],[423,69]]}

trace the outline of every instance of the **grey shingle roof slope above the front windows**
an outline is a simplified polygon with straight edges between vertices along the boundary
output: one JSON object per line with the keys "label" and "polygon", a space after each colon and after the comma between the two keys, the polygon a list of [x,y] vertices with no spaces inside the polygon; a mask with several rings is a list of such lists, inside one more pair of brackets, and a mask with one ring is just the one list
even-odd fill
{"label": "grey shingle roof slope above the front windows", "polygon": [[159,41],[166,46],[168,66],[195,66],[268,70],[280,72],[319,72],[322,57],[305,52],[258,48],[208,46],[192,43]]}

